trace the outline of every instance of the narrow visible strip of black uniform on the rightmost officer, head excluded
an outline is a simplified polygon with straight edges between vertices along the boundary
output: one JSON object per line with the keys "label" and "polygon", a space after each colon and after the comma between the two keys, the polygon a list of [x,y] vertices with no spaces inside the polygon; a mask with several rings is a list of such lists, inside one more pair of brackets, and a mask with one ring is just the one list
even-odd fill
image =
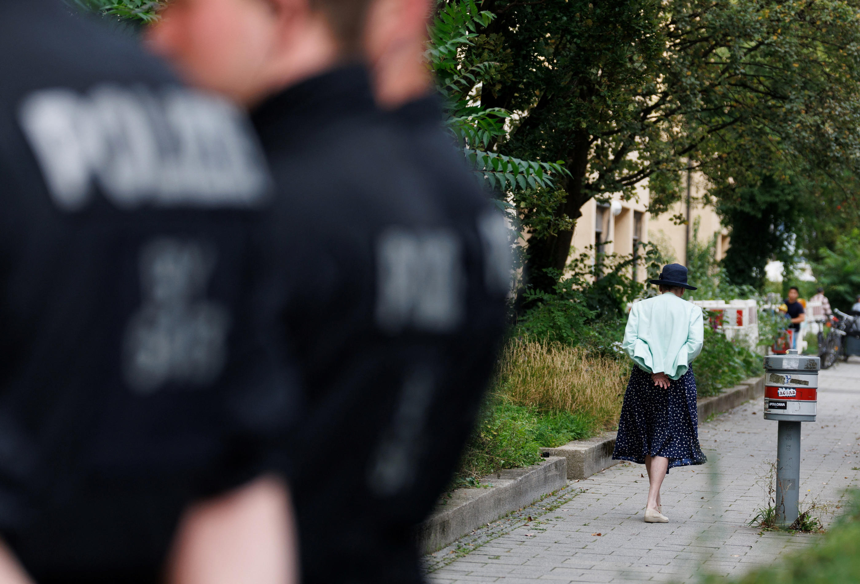
{"label": "narrow visible strip of black uniform on the rightmost officer, head excluded", "polygon": [[445,131],[436,94],[408,102],[387,118],[407,144],[404,152],[415,174],[473,250],[469,318],[446,339],[446,377],[428,416],[433,443],[415,452],[415,480],[384,506],[392,524],[417,524],[451,480],[494,369],[511,289],[512,232],[501,210],[490,204],[482,179],[466,167],[463,152]]}

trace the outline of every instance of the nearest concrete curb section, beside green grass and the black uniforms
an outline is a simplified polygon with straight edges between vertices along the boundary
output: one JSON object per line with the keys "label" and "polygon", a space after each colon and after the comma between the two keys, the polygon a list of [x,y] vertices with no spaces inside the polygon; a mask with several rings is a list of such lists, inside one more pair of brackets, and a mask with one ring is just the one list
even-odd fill
{"label": "nearest concrete curb section, beside green grass and the black uniforms", "polygon": [[437,551],[477,527],[531,505],[567,482],[567,459],[550,457],[538,465],[501,471],[482,479],[487,489],[457,489],[418,526],[415,536],[421,554]]}

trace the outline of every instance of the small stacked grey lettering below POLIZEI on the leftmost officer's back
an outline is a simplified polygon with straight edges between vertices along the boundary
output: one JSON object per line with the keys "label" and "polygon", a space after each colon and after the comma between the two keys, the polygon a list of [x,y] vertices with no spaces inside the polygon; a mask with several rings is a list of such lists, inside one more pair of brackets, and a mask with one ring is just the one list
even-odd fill
{"label": "small stacked grey lettering below POLIZEI on the leftmost officer's back", "polygon": [[205,299],[215,254],[200,242],[160,237],[140,252],[143,305],[126,326],[124,373],[138,393],[168,381],[206,386],[226,358],[230,315]]}

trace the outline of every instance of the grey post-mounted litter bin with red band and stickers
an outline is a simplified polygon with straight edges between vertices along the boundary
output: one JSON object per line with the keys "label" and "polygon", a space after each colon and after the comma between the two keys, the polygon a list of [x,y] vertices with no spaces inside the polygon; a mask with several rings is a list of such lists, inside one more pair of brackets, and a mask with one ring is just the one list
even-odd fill
{"label": "grey post-mounted litter bin with red band and stickers", "polygon": [[801,482],[801,422],[814,422],[820,359],[798,355],[765,357],[765,420],[777,420],[777,524],[797,519]]}

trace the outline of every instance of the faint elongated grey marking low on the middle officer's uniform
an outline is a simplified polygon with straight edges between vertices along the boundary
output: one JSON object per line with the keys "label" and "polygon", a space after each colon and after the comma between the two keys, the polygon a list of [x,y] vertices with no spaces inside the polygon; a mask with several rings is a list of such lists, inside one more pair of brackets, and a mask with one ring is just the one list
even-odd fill
{"label": "faint elongated grey marking low on the middle officer's uniform", "polygon": [[403,383],[394,418],[368,469],[367,486],[377,496],[394,496],[415,481],[416,453],[434,387],[429,368],[418,368]]}

